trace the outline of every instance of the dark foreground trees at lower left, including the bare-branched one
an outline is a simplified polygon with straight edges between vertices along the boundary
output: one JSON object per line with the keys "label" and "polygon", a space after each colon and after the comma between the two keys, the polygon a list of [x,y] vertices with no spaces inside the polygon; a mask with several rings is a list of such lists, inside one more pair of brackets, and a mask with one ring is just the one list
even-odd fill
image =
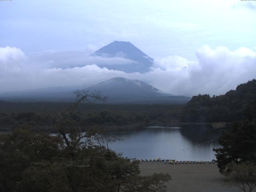
{"label": "dark foreground trees at lower left, including the bare-branched one", "polygon": [[[58,134],[35,134],[27,128],[0,134],[0,192],[164,192],[169,175],[140,176],[139,162],[130,162],[108,148],[115,138],[104,130],[85,133],[72,114],[81,102],[105,100],[99,92],[77,91],[67,114],[47,115]],[[69,133],[69,134],[67,134]]]}

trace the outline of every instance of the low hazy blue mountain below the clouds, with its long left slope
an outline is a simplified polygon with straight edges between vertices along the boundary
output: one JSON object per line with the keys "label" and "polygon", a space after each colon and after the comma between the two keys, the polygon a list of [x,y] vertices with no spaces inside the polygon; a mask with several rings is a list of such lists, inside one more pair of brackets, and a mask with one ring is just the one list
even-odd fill
{"label": "low hazy blue mountain below the clouds, with its long left slope", "polygon": [[[72,102],[75,99],[74,89],[74,87],[52,87],[1,93],[0,100]],[[186,103],[190,100],[189,97],[163,93],[143,81],[122,77],[112,78],[85,89],[90,92],[100,91],[102,96],[108,96],[108,103]]]}

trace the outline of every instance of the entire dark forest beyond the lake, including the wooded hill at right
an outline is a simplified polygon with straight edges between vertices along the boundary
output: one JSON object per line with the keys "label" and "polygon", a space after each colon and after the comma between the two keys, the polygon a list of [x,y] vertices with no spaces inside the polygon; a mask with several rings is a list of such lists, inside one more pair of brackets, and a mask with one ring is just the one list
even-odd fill
{"label": "entire dark forest beyond the lake, including the wooded hill at right", "polygon": [[[66,114],[74,103],[0,101],[0,128],[23,124],[50,126],[46,117]],[[174,122],[233,122],[256,116],[256,80],[225,95],[198,95],[181,104],[81,104],[73,119],[81,125],[172,124]]]}

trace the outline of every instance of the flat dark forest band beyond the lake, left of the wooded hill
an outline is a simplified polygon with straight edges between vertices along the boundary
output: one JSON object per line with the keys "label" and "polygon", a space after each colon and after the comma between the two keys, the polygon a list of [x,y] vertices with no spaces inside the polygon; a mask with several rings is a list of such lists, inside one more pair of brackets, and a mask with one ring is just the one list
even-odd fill
{"label": "flat dark forest band beyond the lake, left of the wooded hill", "polygon": [[[0,128],[20,125],[51,126],[47,115],[65,115],[74,103],[0,101]],[[172,123],[179,119],[178,104],[81,104],[72,118],[80,125]]]}

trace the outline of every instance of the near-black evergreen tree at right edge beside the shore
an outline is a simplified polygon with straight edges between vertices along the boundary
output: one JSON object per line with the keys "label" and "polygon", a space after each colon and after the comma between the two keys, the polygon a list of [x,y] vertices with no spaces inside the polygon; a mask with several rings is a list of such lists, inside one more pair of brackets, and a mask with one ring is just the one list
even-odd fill
{"label": "near-black evergreen tree at right edge beside the shore", "polygon": [[217,153],[218,168],[221,173],[230,172],[230,166],[240,162],[256,163],[256,122],[234,122],[219,138],[222,148]]}

